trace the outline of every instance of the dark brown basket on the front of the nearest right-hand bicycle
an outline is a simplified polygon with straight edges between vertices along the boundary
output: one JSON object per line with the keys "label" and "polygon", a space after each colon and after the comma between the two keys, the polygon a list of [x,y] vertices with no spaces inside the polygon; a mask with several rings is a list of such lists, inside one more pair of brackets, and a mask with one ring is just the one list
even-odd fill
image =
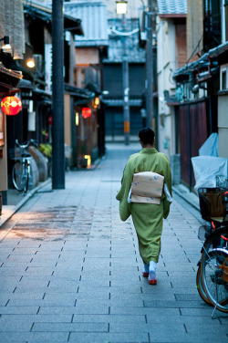
{"label": "dark brown basket on the front of the nearest right-hand bicycle", "polygon": [[220,188],[199,188],[200,208],[202,219],[210,222],[211,217],[224,217],[224,193]]}

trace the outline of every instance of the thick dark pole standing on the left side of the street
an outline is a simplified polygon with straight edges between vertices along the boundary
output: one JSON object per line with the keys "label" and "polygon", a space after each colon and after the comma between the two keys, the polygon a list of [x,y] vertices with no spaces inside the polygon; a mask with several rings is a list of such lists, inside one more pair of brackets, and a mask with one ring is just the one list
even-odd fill
{"label": "thick dark pole standing on the left side of the street", "polygon": [[65,189],[63,0],[52,0],[52,188]]}

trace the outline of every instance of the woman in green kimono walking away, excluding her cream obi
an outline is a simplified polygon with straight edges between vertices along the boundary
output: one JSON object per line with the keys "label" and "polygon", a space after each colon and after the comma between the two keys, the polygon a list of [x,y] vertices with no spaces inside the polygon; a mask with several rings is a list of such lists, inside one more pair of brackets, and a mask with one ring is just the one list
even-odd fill
{"label": "woman in green kimono walking away, excluding her cream obi", "polygon": [[164,177],[171,193],[171,167],[167,156],[154,148],[153,130],[142,129],[139,132],[141,151],[130,156],[127,162],[121,188],[117,193],[120,219],[125,222],[130,214],[138,235],[140,256],[144,264],[143,276],[148,277],[150,285],[156,285],[156,265],[161,251],[161,232],[163,218],[170,213],[170,202],[164,192],[161,203],[128,203],[131,182],[134,173],[157,172]]}

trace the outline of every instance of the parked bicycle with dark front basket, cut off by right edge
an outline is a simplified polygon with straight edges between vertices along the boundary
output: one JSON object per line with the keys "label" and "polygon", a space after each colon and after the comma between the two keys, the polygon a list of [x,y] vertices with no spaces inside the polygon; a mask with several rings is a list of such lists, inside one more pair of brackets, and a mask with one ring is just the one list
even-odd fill
{"label": "parked bicycle with dark front basket, cut off by right edge", "polygon": [[223,188],[199,189],[202,219],[198,237],[202,256],[196,285],[202,299],[215,309],[228,313],[228,192]]}

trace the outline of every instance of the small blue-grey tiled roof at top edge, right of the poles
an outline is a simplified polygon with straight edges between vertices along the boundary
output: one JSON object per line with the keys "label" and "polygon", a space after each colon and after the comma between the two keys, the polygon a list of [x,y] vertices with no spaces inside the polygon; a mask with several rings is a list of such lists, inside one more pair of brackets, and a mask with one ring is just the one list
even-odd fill
{"label": "small blue-grey tiled roof at top edge, right of the poles", "polygon": [[186,15],[187,0],[157,0],[159,15]]}

